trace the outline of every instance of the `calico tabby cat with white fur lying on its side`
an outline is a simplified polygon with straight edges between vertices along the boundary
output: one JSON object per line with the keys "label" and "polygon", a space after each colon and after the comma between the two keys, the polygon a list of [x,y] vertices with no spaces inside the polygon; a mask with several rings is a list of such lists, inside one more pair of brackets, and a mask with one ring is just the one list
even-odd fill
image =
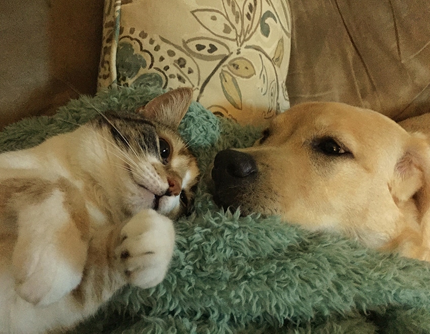
{"label": "calico tabby cat with white fur lying on its side", "polygon": [[126,284],[160,283],[198,167],[180,88],[0,154],[0,332],[73,327]]}

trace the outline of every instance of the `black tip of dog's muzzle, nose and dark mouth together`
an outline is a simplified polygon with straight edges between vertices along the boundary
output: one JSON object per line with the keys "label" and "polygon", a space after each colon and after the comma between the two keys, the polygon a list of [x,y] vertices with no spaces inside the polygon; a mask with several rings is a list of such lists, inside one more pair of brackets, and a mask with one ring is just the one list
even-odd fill
{"label": "black tip of dog's muzzle, nose and dark mouth together", "polygon": [[257,174],[257,165],[250,154],[232,149],[218,152],[212,169],[213,199],[225,208],[237,208],[249,193],[248,188]]}

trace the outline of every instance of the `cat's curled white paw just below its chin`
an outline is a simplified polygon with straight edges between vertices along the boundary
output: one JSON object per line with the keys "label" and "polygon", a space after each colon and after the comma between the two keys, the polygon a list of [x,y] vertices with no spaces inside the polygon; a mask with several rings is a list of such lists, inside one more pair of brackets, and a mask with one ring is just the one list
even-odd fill
{"label": "cat's curled white paw just below its chin", "polygon": [[173,222],[152,209],[146,209],[138,212],[122,228],[115,253],[127,281],[150,288],[164,279],[174,246]]}

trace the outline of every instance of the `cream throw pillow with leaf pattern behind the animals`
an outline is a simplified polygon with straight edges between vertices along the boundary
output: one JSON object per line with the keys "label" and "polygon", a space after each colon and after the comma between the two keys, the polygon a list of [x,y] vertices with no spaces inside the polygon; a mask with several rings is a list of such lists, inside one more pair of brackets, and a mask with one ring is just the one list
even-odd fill
{"label": "cream throw pillow with leaf pattern behind the animals", "polygon": [[106,0],[99,89],[188,86],[214,114],[262,125],[289,107],[285,0]]}

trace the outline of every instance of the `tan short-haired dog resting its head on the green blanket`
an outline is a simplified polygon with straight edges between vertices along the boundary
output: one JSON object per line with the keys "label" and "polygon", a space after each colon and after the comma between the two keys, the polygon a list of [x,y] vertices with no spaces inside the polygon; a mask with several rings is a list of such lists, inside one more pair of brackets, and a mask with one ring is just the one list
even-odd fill
{"label": "tan short-haired dog resting its head on the green blanket", "polygon": [[218,152],[213,198],[430,261],[430,145],[415,132],[428,124],[428,116],[402,128],[348,104],[298,104],[254,146]]}

